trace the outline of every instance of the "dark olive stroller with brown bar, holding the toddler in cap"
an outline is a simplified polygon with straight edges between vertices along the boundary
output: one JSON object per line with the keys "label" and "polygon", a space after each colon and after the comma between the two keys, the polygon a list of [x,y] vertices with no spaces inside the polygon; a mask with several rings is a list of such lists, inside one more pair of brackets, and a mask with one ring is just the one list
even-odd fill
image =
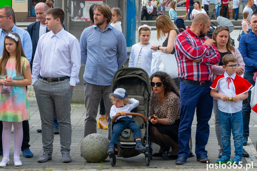
{"label": "dark olive stroller with brown bar, holding the toddler in cap", "polygon": [[[152,159],[152,149],[150,148],[149,142],[149,100],[150,100],[150,81],[147,72],[141,68],[121,68],[114,73],[111,90],[112,92],[116,88],[124,88],[127,90],[128,98],[135,98],[139,101],[139,105],[133,109],[131,112],[135,113],[127,113],[127,115],[133,115],[132,119],[135,120],[135,123],[140,126],[141,137],[142,137],[142,145],[144,145],[147,150],[142,152],[135,150],[135,140],[133,138],[133,133],[130,129],[125,129],[120,138],[119,142],[116,146],[119,154],[123,158],[138,156],[141,153],[144,153],[146,159],[146,165],[149,166],[150,159]],[[111,132],[113,129],[113,125],[115,124],[115,120],[117,117],[121,116],[121,114],[117,114],[113,117],[111,122]],[[125,142],[125,143],[124,143]],[[116,164],[116,156],[114,153],[109,154],[110,164],[115,166]]]}

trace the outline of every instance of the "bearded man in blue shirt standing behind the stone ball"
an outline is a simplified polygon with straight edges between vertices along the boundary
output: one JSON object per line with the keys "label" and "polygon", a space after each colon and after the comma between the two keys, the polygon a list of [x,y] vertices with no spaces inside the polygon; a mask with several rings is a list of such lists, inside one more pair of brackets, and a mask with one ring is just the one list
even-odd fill
{"label": "bearded man in blue shirt standing behind the stone ball", "polygon": [[94,24],[86,28],[80,37],[81,61],[85,64],[84,137],[96,133],[98,104],[103,96],[110,139],[110,85],[114,73],[127,61],[127,48],[122,32],[110,25],[112,13],[106,4],[94,6]]}

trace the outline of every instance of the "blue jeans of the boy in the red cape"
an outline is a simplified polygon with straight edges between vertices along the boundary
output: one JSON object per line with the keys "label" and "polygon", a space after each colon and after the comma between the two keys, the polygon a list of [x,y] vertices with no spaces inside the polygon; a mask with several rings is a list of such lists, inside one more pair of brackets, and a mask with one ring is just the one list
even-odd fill
{"label": "blue jeans of the boy in the red cape", "polygon": [[230,158],[231,145],[230,136],[231,131],[235,146],[235,155],[242,159],[243,157],[243,119],[242,111],[236,113],[225,113],[219,110],[219,123],[221,130],[223,156]]}

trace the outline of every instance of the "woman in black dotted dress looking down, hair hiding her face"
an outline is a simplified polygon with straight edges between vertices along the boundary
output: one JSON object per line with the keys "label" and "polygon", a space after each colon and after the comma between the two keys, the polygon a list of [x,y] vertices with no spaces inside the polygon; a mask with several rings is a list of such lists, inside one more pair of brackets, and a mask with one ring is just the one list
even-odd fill
{"label": "woman in black dotted dress looking down, hair hiding her face", "polygon": [[[162,46],[154,45],[151,46],[151,49],[154,51],[161,51],[169,54],[174,54],[176,57],[176,50],[175,50],[175,39],[179,34],[179,31],[172,20],[167,15],[160,15],[156,19],[156,29],[157,29],[157,40],[162,39],[166,36]],[[174,79],[176,87],[179,89],[180,80],[179,78]]]}

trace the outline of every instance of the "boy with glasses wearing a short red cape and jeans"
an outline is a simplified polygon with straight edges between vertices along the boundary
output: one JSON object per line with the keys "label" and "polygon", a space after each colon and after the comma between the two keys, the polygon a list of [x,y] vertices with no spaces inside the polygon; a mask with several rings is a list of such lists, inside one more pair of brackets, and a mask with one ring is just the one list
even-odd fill
{"label": "boy with glasses wearing a short red cape and jeans", "polygon": [[[248,97],[248,91],[252,87],[246,79],[236,75],[238,68],[237,57],[226,54],[222,58],[225,73],[217,76],[211,84],[211,96],[218,99],[219,123],[221,129],[223,153],[216,163],[239,164],[243,157],[243,119],[242,102]],[[230,132],[232,131],[235,157],[230,159]]]}

